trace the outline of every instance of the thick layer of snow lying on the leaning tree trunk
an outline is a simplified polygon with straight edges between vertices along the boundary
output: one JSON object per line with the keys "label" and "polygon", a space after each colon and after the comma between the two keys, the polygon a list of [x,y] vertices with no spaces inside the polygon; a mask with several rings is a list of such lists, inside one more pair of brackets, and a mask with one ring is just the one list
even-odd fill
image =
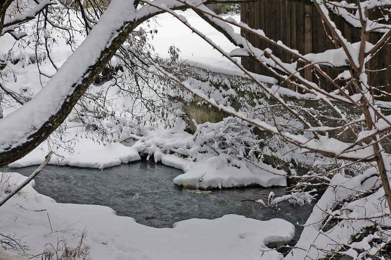
{"label": "thick layer of snow lying on the leaning tree trunk", "polygon": [[[133,10],[132,10],[133,8]],[[103,49],[108,47],[116,32],[125,21],[131,20],[134,7],[132,4],[114,0],[102,16],[100,24],[94,26],[89,36],[79,48],[65,61],[59,71],[38,92],[34,99],[20,109],[0,119],[0,149],[18,147],[26,142],[33,132],[40,129],[48,118],[60,110],[61,105],[74,92],[90,64],[97,62]],[[115,16],[110,15],[113,12]],[[5,134],[6,133],[6,134]]]}

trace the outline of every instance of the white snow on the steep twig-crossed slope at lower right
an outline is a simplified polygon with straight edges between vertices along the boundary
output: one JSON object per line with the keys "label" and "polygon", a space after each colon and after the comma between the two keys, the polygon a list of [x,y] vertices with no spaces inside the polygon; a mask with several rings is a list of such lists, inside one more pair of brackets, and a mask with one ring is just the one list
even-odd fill
{"label": "white snow on the steep twig-crossed slope at lower right", "polygon": [[[363,182],[363,180],[372,176],[376,171],[376,168],[371,167],[364,174],[353,178],[336,174],[332,178],[325,194],[316,203],[313,212],[306,221],[301,238],[296,244],[297,248],[293,249],[285,257],[285,260],[304,259],[305,257],[322,259],[329,254],[329,250],[339,250],[341,244],[348,245],[353,240],[352,236],[354,236],[357,230],[370,227],[374,223],[390,226],[390,218],[381,217],[384,214],[389,214],[387,212],[389,210],[385,207],[386,201],[382,199],[384,198],[384,190],[376,189],[377,191],[369,196],[360,196],[373,187],[379,187],[380,180],[378,178],[369,178]],[[343,201],[352,197],[356,199],[348,203],[343,203]],[[340,210],[331,212],[331,209],[338,203],[343,203],[343,207]],[[381,209],[386,212],[379,212]],[[326,219],[329,219],[328,214],[335,217],[338,220],[338,224],[332,226],[329,230],[324,230]],[[388,233],[386,236],[389,237]],[[340,243],[335,243],[335,241],[340,241]],[[353,244],[355,244],[354,248],[360,249],[365,248],[368,242],[363,240]],[[357,254],[357,251],[348,252],[348,255],[351,257],[354,257],[354,254]]]}

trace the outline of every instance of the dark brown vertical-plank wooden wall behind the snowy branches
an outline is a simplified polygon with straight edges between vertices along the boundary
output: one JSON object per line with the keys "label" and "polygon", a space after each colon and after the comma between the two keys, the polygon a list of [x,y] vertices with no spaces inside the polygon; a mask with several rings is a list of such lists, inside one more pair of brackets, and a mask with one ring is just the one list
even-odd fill
{"label": "dark brown vertical-plank wooden wall behind the snowy branches", "polygon": [[[253,3],[241,4],[241,20],[255,29],[262,29],[266,36],[273,40],[281,40],[285,45],[297,49],[302,54],[324,52],[333,48],[333,44],[326,36],[325,28],[320,15],[314,6],[289,0],[259,0]],[[371,11],[369,17],[378,15],[378,10]],[[360,31],[350,27],[339,17],[334,17],[338,29],[350,42],[360,40]],[[287,62],[293,57],[275,46],[260,40],[252,34],[242,31],[242,34],[255,46],[261,49],[270,48],[282,61]],[[372,34],[369,41],[375,42],[380,35]],[[264,66],[251,58],[242,58],[242,65],[248,70],[267,76],[274,76]],[[376,57],[370,61],[370,70],[379,70],[369,73],[369,83],[372,86],[382,87],[391,92],[391,46],[383,48]],[[342,71],[326,70],[329,75],[336,78]],[[319,83],[327,90],[333,90],[325,79],[318,80],[311,72],[306,71],[305,76]],[[383,97],[382,100],[391,100]]]}

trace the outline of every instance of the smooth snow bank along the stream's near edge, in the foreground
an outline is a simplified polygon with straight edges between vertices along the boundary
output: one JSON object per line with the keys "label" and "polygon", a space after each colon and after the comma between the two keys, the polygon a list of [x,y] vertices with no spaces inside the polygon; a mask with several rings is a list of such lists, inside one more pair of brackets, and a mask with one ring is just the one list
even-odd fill
{"label": "smooth snow bank along the stream's near edge, in the foreground", "polygon": [[[25,179],[17,173],[9,175],[5,186]],[[3,234],[21,239],[22,245],[29,247],[29,256],[43,253],[45,245],[57,245],[59,240],[75,246],[80,231],[86,229],[84,244],[90,247],[93,260],[277,260],[282,255],[265,244],[289,241],[295,231],[291,223],[282,219],[260,221],[237,215],[184,220],[173,228],[152,228],[132,218],[116,216],[109,207],[56,203],[38,194],[31,185],[22,189],[22,195],[1,207],[0,229]],[[260,250],[268,251],[261,257]],[[1,254],[4,253],[0,251]]]}

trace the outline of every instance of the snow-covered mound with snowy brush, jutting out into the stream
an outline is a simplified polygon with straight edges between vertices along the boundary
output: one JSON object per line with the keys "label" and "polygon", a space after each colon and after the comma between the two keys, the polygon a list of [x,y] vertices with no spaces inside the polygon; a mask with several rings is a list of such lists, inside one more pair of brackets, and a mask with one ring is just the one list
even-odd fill
{"label": "snow-covered mound with snowy brush, jutting out into the stream", "polygon": [[[223,153],[200,153],[196,142],[200,134],[191,135],[182,128],[184,125],[179,122],[173,129],[151,131],[145,141],[145,152],[153,154],[155,161],[184,171],[174,179],[175,184],[198,189],[257,184],[263,187],[286,186],[286,172],[270,165],[262,162],[251,164]],[[141,145],[140,142],[136,144]],[[181,153],[188,157],[181,157]]]}

